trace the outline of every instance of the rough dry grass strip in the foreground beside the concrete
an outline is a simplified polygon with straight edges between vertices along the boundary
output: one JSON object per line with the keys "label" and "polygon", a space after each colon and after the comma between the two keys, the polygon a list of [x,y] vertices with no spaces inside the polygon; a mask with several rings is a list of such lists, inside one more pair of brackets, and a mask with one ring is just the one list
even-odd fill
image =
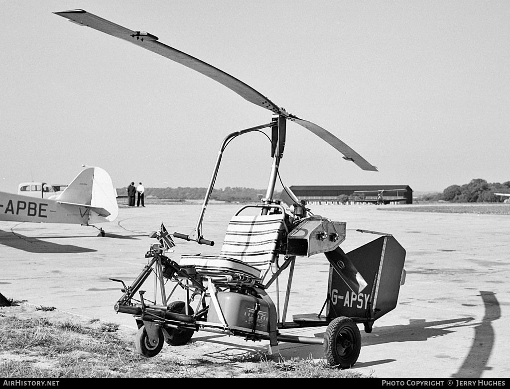
{"label": "rough dry grass strip in the foreground beside the concrete", "polygon": [[0,377],[362,377],[321,361],[283,361],[263,353],[232,356],[224,363],[183,359],[183,354],[168,352],[144,358],[135,349],[134,334],[123,339],[114,333],[117,330],[117,324],[98,320],[22,319],[13,312],[0,312]]}

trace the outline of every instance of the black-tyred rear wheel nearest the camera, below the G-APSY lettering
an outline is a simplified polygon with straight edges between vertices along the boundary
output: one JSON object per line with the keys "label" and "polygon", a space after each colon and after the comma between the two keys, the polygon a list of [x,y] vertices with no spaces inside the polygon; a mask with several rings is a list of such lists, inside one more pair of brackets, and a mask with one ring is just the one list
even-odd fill
{"label": "black-tyred rear wheel nearest the camera, below the G-APSY lettering", "polygon": [[358,360],[361,335],[358,325],[348,317],[337,317],[324,334],[324,353],[329,365],[347,369]]}

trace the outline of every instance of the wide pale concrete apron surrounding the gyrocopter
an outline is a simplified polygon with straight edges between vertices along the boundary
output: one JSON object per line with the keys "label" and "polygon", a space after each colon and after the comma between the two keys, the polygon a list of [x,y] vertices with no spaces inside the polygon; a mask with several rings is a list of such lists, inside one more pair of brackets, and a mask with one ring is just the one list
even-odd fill
{"label": "wide pale concrete apron surrounding the gyrocopter", "polygon": [[[385,206],[388,209],[398,206]],[[183,254],[217,255],[228,220],[239,205],[210,205],[203,236],[214,247],[175,239]],[[200,205],[148,205],[122,208],[113,223],[90,227],[0,222],[0,292],[35,305],[56,307],[129,326],[130,315],[116,314],[122,279],[129,285],[147,260],[161,222],[169,232],[189,233]],[[378,319],[371,334],[362,331],[362,349],[353,369],[376,377],[492,378],[510,375],[506,307],[510,301],[508,216],[391,212],[367,206],[314,206],[312,211],[346,221],[345,252],[374,236],[356,229],[393,234],[406,249],[406,283],[397,308]],[[323,255],[297,258],[288,318],[318,313],[327,292],[328,263]],[[152,283],[147,293],[152,293]],[[286,275],[280,282],[285,289]],[[283,300],[283,293],[281,300]],[[284,334],[322,337],[325,327],[285,330]],[[198,332],[192,340],[222,352],[266,351],[268,342]],[[134,336],[133,336],[134,341]],[[211,348],[212,347],[212,348]],[[206,350],[206,349],[205,349]],[[204,351],[205,351],[204,350]],[[171,353],[165,346],[162,353]],[[284,358],[324,357],[322,346],[281,343]],[[214,358],[213,358],[214,359]],[[224,359],[218,359],[224,362]]]}

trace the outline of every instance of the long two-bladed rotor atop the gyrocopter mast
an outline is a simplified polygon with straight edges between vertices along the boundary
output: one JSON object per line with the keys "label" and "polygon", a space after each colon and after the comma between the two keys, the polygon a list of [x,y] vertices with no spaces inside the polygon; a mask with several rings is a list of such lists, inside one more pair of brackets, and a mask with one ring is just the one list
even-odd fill
{"label": "long two-bladed rotor atop the gyrocopter mast", "polygon": [[215,68],[212,65],[209,65],[206,62],[194,58],[191,55],[158,42],[158,37],[152,34],[126,29],[125,27],[112,23],[109,20],[100,18],[99,16],[93,15],[84,10],[55,12],[55,14],[65,17],[76,24],[88,26],[94,30],[134,43],[137,46],[160,54],[165,58],[168,58],[203,75],[206,75],[207,77],[212,78],[228,89],[236,92],[245,100],[266,108],[274,114],[282,115],[291,121],[295,121],[297,124],[313,132],[323,141],[340,151],[345,155],[344,159],[354,162],[356,165],[360,166],[361,169],[374,172],[377,171],[375,166],[370,164],[361,155],[356,153],[349,146],[339,140],[339,138],[326,131],[322,127],[288,114],[285,109],[278,107],[267,97],[254,90],[239,79],[231,76],[228,73],[225,73],[218,68]]}

